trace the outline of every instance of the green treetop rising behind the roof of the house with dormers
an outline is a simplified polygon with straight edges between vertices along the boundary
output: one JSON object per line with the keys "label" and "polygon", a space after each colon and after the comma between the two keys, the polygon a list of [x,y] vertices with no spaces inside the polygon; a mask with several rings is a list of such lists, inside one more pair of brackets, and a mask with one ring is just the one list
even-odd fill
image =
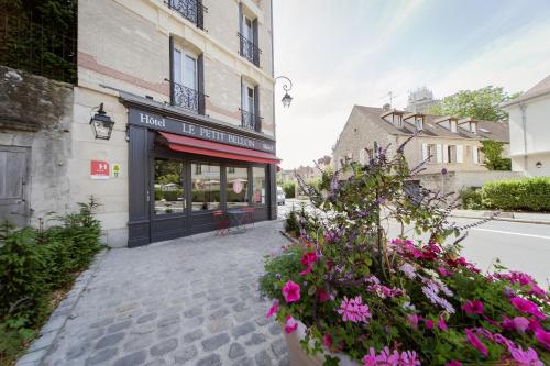
{"label": "green treetop rising behind the roof of the house with dormers", "polygon": [[508,113],[501,110],[498,106],[517,98],[519,95],[520,92],[508,95],[502,87],[493,86],[477,90],[461,90],[429,107],[427,112],[438,115],[471,117],[501,122],[508,119]]}

